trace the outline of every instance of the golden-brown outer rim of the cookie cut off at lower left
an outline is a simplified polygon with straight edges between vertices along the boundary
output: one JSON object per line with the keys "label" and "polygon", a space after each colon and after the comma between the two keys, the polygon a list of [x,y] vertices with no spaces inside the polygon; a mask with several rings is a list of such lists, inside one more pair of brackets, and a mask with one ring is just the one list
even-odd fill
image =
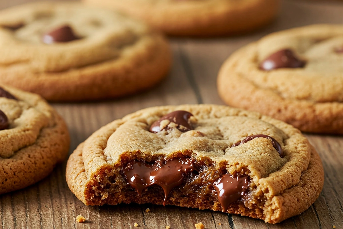
{"label": "golden-brown outer rim of the cookie cut off at lower left", "polygon": [[[46,108],[51,113],[55,119],[55,125],[40,130],[40,135],[33,145],[16,151],[10,158],[0,160],[2,167],[0,177],[6,178],[3,183],[0,183],[0,194],[20,190],[44,179],[52,172],[56,164],[63,162],[67,157],[70,145],[70,136],[66,123],[43,98],[16,88],[2,87],[10,90],[14,96],[16,96],[16,93],[21,93],[21,97],[31,96],[38,101],[38,105]],[[5,165],[11,169],[4,169]],[[6,171],[15,174],[9,177]]]}

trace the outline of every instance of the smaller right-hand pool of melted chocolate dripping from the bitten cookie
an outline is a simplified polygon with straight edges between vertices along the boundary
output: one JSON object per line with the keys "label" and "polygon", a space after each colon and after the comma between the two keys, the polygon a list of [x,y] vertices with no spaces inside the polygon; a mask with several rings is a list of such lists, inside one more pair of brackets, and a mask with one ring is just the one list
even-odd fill
{"label": "smaller right-hand pool of melted chocolate dripping from the bitten cookie", "polygon": [[225,174],[215,182],[214,188],[217,191],[218,200],[222,205],[223,212],[227,211],[230,204],[245,195],[248,185],[249,177],[241,175],[233,177]]}

